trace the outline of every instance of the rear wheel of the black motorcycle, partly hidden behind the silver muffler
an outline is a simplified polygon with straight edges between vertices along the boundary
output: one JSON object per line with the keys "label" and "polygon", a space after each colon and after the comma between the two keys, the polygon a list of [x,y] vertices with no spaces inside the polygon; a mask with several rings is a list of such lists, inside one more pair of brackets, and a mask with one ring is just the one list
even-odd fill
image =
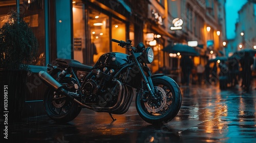
{"label": "rear wheel of the black motorcycle, partly hidden behind the silver muffler", "polygon": [[[60,82],[66,86],[67,90],[75,92],[74,82],[71,78],[65,77]],[[47,115],[58,123],[74,120],[81,111],[81,106],[66,96],[54,92],[50,87],[45,92],[44,108]]]}

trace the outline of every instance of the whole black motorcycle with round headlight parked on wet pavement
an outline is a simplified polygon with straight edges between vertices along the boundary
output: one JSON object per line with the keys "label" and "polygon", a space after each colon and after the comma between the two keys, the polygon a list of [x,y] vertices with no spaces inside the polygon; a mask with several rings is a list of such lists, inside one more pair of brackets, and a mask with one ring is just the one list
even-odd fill
{"label": "whole black motorcycle with round headlight parked on wet pavement", "polygon": [[181,107],[181,91],[172,78],[152,75],[147,66],[154,59],[151,47],[145,48],[142,42],[133,47],[131,40],[112,41],[131,54],[103,54],[93,67],[56,59],[55,65],[48,65],[48,72],[39,72],[49,86],[44,97],[48,116],[56,122],[69,122],[81,108],[88,108],[108,112],[115,120],[112,114],[124,114],[136,92],[136,109],[144,121],[160,125],[173,120]]}

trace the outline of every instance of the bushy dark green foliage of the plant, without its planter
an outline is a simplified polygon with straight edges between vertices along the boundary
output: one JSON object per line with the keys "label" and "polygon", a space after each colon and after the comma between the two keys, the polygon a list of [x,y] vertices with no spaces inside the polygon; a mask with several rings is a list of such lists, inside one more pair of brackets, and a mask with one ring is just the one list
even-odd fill
{"label": "bushy dark green foliage of the plant, without its planter", "polygon": [[16,11],[8,13],[0,29],[0,68],[29,69],[38,50],[37,39],[28,23]]}

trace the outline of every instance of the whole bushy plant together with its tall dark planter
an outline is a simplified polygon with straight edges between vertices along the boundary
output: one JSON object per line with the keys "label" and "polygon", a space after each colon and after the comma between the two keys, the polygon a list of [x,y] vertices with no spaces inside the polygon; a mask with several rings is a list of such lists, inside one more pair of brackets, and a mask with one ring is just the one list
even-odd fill
{"label": "whole bushy plant together with its tall dark planter", "polygon": [[0,29],[0,91],[4,94],[0,105],[1,113],[8,111],[5,113],[11,121],[22,118],[27,73],[30,71],[28,65],[37,54],[38,43],[22,16],[14,10],[8,16]]}

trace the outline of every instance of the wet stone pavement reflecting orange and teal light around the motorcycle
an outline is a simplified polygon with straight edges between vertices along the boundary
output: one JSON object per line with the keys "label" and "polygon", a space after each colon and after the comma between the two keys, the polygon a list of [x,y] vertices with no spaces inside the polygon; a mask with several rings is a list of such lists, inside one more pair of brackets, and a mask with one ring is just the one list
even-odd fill
{"label": "wet stone pavement reflecting orange and teal light around the motorcycle", "polygon": [[9,126],[9,138],[20,142],[256,142],[256,90],[220,90],[216,85],[181,86],[182,106],[161,127],[144,122],[135,104],[123,115],[82,109],[68,124],[46,115]]}

